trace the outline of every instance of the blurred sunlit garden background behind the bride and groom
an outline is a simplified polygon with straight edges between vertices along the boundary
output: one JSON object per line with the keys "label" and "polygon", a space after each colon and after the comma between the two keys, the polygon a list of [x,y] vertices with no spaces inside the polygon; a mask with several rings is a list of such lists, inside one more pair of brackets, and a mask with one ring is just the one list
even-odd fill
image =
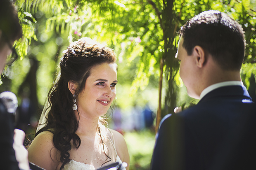
{"label": "blurred sunlit garden background behind the bride and groom", "polygon": [[20,56],[6,68],[0,92],[12,91],[17,112],[33,140],[47,93],[70,42],[90,37],[114,49],[118,64],[116,109],[109,128],[122,133],[130,169],[149,169],[158,120],[198,102],[188,97],[174,59],[180,27],[205,10],[227,13],[242,25],[247,49],[241,75],[256,97],[256,0],[12,0],[24,37],[15,42]]}

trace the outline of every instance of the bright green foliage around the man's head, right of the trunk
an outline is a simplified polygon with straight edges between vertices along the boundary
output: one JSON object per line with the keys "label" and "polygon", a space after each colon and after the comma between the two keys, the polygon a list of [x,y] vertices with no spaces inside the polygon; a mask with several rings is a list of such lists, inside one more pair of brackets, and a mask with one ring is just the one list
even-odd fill
{"label": "bright green foliage around the man's head, right of the trunk", "polygon": [[[255,1],[252,1],[255,3]],[[244,31],[245,38],[247,40],[246,54],[244,59],[244,65],[241,69],[242,81],[247,86],[247,89],[250,86],[250,79],[253,74],[255,77],[255,66],[256,66],[256,55],[255,55],[255,46],[256,46],[256,34],[255,34],[255,24],[256,24],[256,12],[254,9],[255,5],[250,2],[250,0],[182,0],[175,1],[173,6],[174,13],[174,25],[180,28],[185,21],[192,18],[193,16],[203,12],[205,10],[219,10],[221,12],[227,13],[230,17],[238,21]],[[178,37],[176,35],[175,41],[173,43],[173,49],[177,49]],[[182,87],[183,84],[180,82],[180,79],[177,78],[178,75],[173,75],[174,81],[178,87]],[[255,84],[255,82],[252,82]],[[251,95],[255,95],[254,93]],[[168,98],[168,94],[167,94]],[[186,105],[190,105],[191,98],[187,97],[183,101],[179,101],[178,105],[186,102]],[[194,102],[192,100],[192,102]],[[168,102],[167,102],[168,103]],[[172,108],[173,109],[173,108]]]}

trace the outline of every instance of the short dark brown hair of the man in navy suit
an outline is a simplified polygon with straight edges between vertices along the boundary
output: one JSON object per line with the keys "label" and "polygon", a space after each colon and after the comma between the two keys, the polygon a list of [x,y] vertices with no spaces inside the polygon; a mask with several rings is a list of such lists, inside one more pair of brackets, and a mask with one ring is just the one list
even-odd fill
{"label": "short dark brown hair of the man in navy suit", "polygon": [[187,21],[180,28],[183,47],[190,56],[200,46],[224,70],[240,70],[244,60],[245,39],[242,26],[227,14],[205,11]]}

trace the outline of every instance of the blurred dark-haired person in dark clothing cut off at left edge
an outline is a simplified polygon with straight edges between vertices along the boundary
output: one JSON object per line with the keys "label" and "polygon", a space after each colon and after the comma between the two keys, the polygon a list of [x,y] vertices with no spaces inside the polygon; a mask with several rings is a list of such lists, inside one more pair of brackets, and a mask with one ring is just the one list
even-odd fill
{"label": "blurred dark-haired person in dark clothing cut off at left edge", "polygon": [[[17,11],[9,0],[0,0],[0,73],[5,65],[11,65],[17,59],[12,47],[15,40],[22,37]],[[0,100],[0,169],[28,170],[28,151],[23,142],[25,133],[15,129],[11,114]]]}

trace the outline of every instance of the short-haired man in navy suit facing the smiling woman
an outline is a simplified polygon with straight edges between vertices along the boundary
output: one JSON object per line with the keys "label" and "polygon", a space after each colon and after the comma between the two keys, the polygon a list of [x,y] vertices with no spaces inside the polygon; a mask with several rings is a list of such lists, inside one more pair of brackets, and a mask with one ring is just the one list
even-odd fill
{"label": "short-haired man in navy suit facing the smiling woman", "polygon": [[179,33],[180,77],[188,95],[200,101],[164,117],[151,170],[219,169],[219,156],[230,155],[234,147],[228,150],[229,145],[239,143],[254,105],[239,74],[244,31],[227,14],[206,11],[187,21]]}

